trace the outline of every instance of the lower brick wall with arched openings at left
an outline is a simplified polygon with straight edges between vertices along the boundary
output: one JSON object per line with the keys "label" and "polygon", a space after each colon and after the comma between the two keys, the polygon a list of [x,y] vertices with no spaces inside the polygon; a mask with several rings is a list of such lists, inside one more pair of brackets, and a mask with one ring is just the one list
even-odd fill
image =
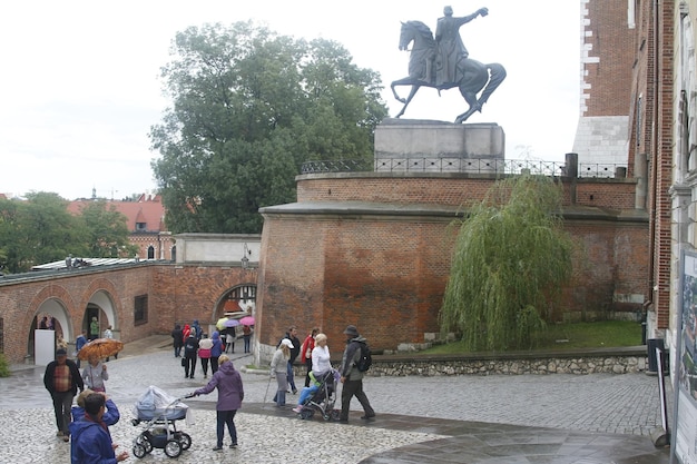
{"label": "lower brick wall with arched openings at left", "polygon": [[[33,319],[48,306],[65,312],[69,327],[60,327],[68,342],[87,328],[86,308],[100,307],[100,332],[111,323],[127,343],[155,333],[169,333],[175,323],[198,319],[207,328],[224,313],[220,298],[233,287],[255,285],[256,269],[214,266],[139,264],[118,269],[57,273],[50,277],[0,283],[4,325],[3,353],[20,363],[32,353]],[[148,320],[136,325],[135,298],[148,296]],[[42,309],[43,308],[43,309]]]}

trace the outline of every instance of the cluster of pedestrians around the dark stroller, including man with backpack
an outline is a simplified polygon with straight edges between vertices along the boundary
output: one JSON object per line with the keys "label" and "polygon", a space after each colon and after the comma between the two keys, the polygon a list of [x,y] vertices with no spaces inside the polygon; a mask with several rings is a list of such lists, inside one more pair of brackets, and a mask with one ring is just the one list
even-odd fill
{"label": "cluster of pedestrians around the dark stroller, including man with backpack", "polygon": [[[320,387],[321,379],[332,369],[327,337],[325,334],[318,332],[317,328],[313,328],[301,346],[296,336],[297,327],[291,326],[278,343],[278,347],[271,362],[271,376],[276,379],[277,386],[276,394],[273,398],[276,406],[285,406],[286,393],[289,393],[288,388],[291,388],[293,394],[297,393],[294,382],[293,364],[301,353],[304,364],[307,366],[307,373],[305,376],[305,387],[301,393],[297,406],[293,409],[294,412],[300,413],[303,404],[305,404],[307,398]],[[340,381],[343,384],[338,421],[341,423],[348,422],[351,399],[354,396],[363,407],[364,414],[361,418],[371,421],[375,417],[375,411],[363,391],[364,372],[357,367],[362,356],[361,348],[362,345],[366,343],[366,339],[359,333],[359,329],[354,325],[348,325],[344,330],[344,335],[346,335],[346,347],[338,369]],[[311,346],[312,348],[310,348]],[[308,352],[310,357],[307,357]]]}

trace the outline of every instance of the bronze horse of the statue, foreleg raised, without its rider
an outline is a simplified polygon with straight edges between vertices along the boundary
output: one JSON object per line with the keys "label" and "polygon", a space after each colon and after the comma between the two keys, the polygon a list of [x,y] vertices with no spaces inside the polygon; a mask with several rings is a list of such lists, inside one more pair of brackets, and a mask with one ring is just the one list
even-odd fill
{"label": "bronze horse of the statue, foreleg raised, without its rider", "polygon": [[[474,111],[482,110],[482,105],[487,102],[491,93],[501,85],[505,78],[505,69],[499,63],[483,65],[470,58],[463,58],[455,68],[455,81],[435,85],[435,61],[436,42],[433,33],[426,24],[421,21],[402,22],[400,33],[400,50],[406,50],[410,42],[413,42],[409,59],[409,77],[395,80],[390,86],[394,98],[404,106],[396,118],[404,115],[409,102],[414,98],[421,87],[436,88],[441,90],[458,87],[469,109],[455,118],[455,124],[464,122]],[[435,65],[435,66],[434,66]],[[411,92],[406,99],[401,98],[395,87],[411,86]],[[477,95],[481,91],[481,97]]]}

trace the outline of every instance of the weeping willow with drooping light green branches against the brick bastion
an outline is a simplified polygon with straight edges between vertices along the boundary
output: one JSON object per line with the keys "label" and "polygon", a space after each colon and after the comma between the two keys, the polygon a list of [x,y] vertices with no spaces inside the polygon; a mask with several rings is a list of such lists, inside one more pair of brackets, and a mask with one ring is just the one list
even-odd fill
{"label": "weeping willow with drooping light green branches against the brick bastion", "polygon": [[441,329],[470,351],[530,347],[571,276],[561,188],[543,176],[497,182],[462,223]]}

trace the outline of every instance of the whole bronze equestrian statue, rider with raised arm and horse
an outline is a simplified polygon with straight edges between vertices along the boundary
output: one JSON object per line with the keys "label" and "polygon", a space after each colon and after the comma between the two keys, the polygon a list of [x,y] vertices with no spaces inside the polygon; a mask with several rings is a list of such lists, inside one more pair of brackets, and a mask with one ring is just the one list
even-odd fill
{"label": "whole bronze equestrian statue, rider with raised arm and horse", "polygon": [[[460,89],[468,102],[465,112],[455,118],[455,124],[464,122],[475,111],[482,110],[491,93],[505,78],[505,69],[499,63],[481,63],[469,58],[469,52],[460,38],[460,27],[479,16],[489,14],[480,8],[474,13],[462,18],[452,16],[452,8],[443,9],[444,17],[438,20],[435,37],[431,29],[421,21],[402,22],[400,50],[408,50],[413,42],[409,59],[409,76],[392,82],[394,98],[404,106],[396,118],[404,115],[414,95],[421,87],[441,90]],[[411,86],[409,97],[401,98],[395,88]],[[478,93],[481,96],[478,98]]]}

